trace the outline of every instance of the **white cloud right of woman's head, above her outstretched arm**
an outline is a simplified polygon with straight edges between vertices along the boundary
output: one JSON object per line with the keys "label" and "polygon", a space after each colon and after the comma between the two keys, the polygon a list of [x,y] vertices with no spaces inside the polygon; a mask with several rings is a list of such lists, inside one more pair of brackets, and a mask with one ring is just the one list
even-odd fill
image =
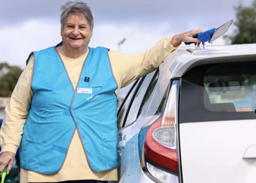
{"label": "white cloud right of woman's head, above her outstretched arm", "polygon": [[[101,45],[124,53],[141,53],[154,46],[158,40],[171,36],[170,26],[163,23],[154,26],[142,26],[137,23],[102,23],[95,27],[91,46]],[[120,45],[118,43],[126,38]]]}

